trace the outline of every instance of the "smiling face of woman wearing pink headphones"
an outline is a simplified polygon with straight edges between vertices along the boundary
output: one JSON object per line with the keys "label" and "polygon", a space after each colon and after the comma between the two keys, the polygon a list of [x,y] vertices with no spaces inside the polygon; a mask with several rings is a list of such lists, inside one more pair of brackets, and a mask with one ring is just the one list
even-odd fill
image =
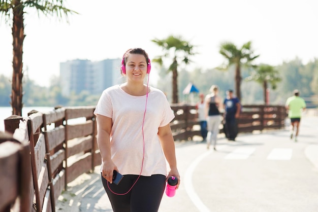
{"label": "smiling face of woman wearing pink headphones", "polygon": [[130,54],[126,60],[126,76],[131,81],[142,81],[147,74],[146,58],[142,54]]}

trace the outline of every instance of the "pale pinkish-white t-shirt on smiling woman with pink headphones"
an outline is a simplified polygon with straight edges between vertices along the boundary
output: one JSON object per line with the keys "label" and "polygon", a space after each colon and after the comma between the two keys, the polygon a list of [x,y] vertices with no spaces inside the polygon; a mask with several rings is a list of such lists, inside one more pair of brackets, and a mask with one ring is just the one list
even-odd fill
{"label": "pale pinkish-white t-shirt on smiling woman with pink headphones", "polygon": [[158,127],[166,126],[174,119],[174,113],[165,94],[156,88],[149,88],[146,105],[146,95],[132,96],[124,92],[120,85],[109,87],[103,91],[94,111],[95,115],[112,118],[111,158],[121,174],[139,175],[143,156],[141,175],[167,176],[168,173],[157,133]]}

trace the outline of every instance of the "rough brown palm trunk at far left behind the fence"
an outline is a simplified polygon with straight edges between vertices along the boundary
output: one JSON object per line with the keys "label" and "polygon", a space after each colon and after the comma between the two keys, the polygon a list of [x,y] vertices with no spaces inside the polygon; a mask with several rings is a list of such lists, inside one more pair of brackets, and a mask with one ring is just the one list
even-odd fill
{"label": "rough brown palm trunk at far left behind the fence", "polygon": [[17,9],[20,1],[15,2],[13,9],[13,74],[12,74],[12,91],[11,91],[11,106],[12,115],[22,116],[22,54],[23,54],[23,40],[24,40],[24,25],[23,25],[23,8]]}

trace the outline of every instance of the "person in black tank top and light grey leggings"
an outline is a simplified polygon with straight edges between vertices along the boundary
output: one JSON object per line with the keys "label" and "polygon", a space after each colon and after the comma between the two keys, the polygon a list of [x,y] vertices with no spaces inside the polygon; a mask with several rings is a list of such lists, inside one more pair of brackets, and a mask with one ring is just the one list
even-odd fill
{"label": "person in black tank top and light grey leggings", "polygon": [[210,148],[210,144],[213,141],[213,149],[216,150],[216,140],[217,134],[219,133],[219,125],[221,123],[221,116],[219,109],[221,108],[221,99],[218,96],[218,87],[216,85],[212,85],[210,88],[211,94],[206,96],[205,100],[205,111],[207,117],[207,127],[208,127],[208,135],[207,135],[207,148]]}

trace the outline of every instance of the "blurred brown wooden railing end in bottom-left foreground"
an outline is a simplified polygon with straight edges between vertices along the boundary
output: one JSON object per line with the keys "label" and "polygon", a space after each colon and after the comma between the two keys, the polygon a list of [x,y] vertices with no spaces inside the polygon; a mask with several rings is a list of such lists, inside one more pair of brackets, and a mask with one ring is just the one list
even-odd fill
{"label": "blurred brown wooden railing end in bottom-left foreground", "polygon": [[0,132],[0,211],[29,211],[32,206],[29,152],[24,129],[14,134]]}

